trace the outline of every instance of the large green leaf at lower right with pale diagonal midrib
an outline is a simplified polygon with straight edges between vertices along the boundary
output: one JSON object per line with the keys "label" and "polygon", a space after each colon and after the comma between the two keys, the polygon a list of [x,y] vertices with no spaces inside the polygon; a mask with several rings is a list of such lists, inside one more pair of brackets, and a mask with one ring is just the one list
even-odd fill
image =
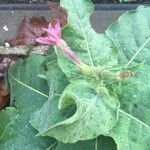
{"label": "large green leaf at lower right with pale diagonal midrib", "polygon": [[111,134],[120,150],[150,147],[150,82],[145,78],[149,66],[145,66],[135,77],[123,82],[119,95],[120,119]]}

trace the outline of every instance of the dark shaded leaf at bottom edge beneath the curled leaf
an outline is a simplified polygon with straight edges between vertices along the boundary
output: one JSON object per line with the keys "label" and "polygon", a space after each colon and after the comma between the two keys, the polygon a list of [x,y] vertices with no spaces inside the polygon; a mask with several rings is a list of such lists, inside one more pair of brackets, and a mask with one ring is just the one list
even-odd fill
{"label": "dark shaded leaf at bottom edge beneath the curled leaf", "polygon": [[116,144],[110,137],[99,136],[93,140],[80,141],[74,144],[58,143],[56,150],[116,150]]}

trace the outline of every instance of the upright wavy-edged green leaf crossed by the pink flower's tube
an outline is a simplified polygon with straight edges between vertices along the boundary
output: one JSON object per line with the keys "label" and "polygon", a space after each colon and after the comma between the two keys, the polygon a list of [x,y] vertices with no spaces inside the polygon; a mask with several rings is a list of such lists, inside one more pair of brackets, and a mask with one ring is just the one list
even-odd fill
{"label": "upright wavy-edged green leaf crossed by the pink flower's tube", "polygon": [[[94,10],[90,0],[61,0],[61,6],[68,12],[68,24],[62,31],[62,38],[75,54],[90,66],[111,67],[117,64],[117,50],[105,35],[92,29],[90,15]],[[58,64],[69,77],[76,80],[82,77],[77,68],[58,50]]]}

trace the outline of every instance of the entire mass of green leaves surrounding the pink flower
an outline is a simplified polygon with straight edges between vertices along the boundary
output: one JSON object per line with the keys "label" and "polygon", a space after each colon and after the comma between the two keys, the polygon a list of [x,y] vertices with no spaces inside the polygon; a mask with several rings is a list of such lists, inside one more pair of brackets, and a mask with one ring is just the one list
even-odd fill
{"label": "entire mass of green leaves surrounding the pink flower", "polygon": [[102,35],[91,28],[90,0],[60,3],[69,16],[63,39],[94,75],[83,74],[59,49],[11,66],[0,148],[149,150],[150,8],[125,13]]}

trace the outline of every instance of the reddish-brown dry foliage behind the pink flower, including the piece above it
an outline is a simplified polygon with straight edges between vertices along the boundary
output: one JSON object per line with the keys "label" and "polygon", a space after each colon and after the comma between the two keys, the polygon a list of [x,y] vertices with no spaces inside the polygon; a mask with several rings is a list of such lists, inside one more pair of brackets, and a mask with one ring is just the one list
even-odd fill
{"label": "reddish-brown dry foliage behind the pink flower, including the piece above it", "polygon": [[[48,1],[47,3],[52,13],[51,16],[54,16],[49,22],[55,24],[59,20],[61,26],[65,26],[67,24],[66,11],[57,2]],[[47,28],[49,22],[44,17],[25,17],[19,27],[19,34],[8,42],[12,46],[36,45],[36,38],[46,34],[42,28]]]}

